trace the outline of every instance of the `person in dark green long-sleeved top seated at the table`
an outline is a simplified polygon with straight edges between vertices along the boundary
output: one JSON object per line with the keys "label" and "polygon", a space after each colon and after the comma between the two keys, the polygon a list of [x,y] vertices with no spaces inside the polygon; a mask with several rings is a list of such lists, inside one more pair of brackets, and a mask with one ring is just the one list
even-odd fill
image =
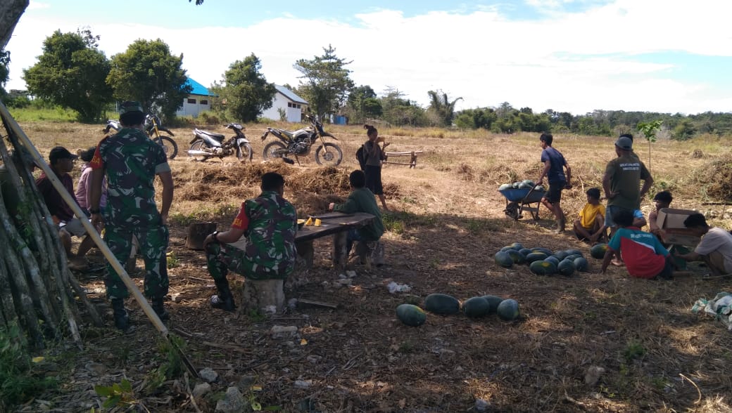
{"label": "person in dark green long-sleeved top seated at the table", "polygon": [[348,231],[346,238],[346,256],[351,253],[354,241],[375,242],[384,235],[384,221],[381,221],[381,211],[376,206],[371,190],[366,188],[366,175],[361,170],[354,170],[348,176],[351,183],[351,194],[342,204],[331,202],[328,205],[329,211],[340,211],[344,213],[365,212],[374,216],[374,219],[367,225]]}

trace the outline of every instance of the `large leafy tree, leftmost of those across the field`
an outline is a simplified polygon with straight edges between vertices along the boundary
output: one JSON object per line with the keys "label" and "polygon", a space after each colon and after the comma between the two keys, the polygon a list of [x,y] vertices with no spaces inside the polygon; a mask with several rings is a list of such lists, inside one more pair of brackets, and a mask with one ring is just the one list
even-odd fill
{"label": "large leafy tree, leftmost of those across the field", "polygon": [[75,110],[80,121],[98,121],[112,101],[112,89],[105,82],[109,60],[97,49],[97,39],[88,29],[56,30],[46,37],[38,62],[23,70],[31,94]]}

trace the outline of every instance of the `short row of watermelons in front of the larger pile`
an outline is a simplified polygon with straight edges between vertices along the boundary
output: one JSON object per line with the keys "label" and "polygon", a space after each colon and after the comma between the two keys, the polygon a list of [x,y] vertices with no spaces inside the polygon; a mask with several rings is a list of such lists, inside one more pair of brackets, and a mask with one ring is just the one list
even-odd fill
{"label": "short row of watermelons in front of the larger pile", "polygon": [[[434,314],[453,315],[460,313],[460,301],[452,295],[430,294],[425,298],[425,309]],[[478,318],[489,314],[498,314],[506,321],[518,319],[518,301],[496,295],[482,295],[468,298],[463,302],[463,313],[467,317]],[[397,318],[406,325],[417,327],[425,324],[427,314],[425,310],[413,304],[401,304],[397,307]]]}

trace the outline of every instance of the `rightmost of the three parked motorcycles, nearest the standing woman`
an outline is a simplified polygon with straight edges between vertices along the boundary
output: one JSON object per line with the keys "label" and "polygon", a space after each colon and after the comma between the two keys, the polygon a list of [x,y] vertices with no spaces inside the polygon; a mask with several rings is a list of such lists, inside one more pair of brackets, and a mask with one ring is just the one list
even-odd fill
{"label": "rightmost of the three parked motorcycles, nearest the standing woman", "polygon": [[305,117],[310,121],[310,126],[293,132],[285,129],[267,128],[266,132],[262,134],[262,140],[265,140],[269,134],[275,135],[279,140],[264,146],[263,158],[265,160],[282,158],[288,164],[294,164],[295,162],[287,157],[288,155],[294,155],[297,164],[300,164],[299,156],[310,154],[310,149],[319,140],[321,145],[315,149],[315,162],[318,162],[319,165],[338,166],[343,160],[343,151],[335,143],[325,141],[326,137],[332,137],[334,140],[337,140],[337,138],[325,132],[323,124],[314,116],[305,115]]}

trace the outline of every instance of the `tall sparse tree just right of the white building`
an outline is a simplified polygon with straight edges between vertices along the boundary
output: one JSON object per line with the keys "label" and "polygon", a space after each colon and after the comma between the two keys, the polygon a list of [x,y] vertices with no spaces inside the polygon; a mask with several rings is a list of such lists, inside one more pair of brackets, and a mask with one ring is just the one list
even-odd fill
{"label": "tall sparse tree just right of the white building", "polygon": [[308,105],[321,118],[326,114],[337,113],[346,102],[348,91],[354,87],[346,69],[351,61],[335,56],[335,48],[323,48],[323,56],[311,60],[299,59],[294,68],[302,73],[298,93],[307,100]]}

